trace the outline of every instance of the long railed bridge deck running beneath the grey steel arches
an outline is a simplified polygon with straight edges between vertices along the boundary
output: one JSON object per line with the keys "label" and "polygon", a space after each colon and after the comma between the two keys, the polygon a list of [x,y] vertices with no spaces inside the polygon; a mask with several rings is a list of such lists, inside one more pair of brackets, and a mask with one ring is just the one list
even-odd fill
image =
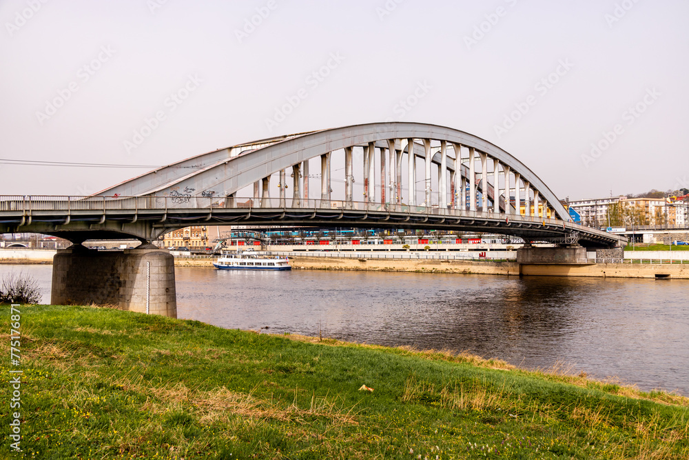
{"label": "long railed bridge deck running beneath the grey steel arches", "polygon": [[185,226],[233,224],[490,232],[587,247],[626,240],[560,219],[438,206],[278,198],[0,197],[1,231],[40,232],[72,241],[123,234],[154,239]]}

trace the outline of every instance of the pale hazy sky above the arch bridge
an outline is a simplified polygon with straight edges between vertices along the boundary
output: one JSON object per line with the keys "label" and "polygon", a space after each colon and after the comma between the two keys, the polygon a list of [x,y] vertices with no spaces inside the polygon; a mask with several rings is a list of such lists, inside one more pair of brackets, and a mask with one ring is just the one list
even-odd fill
{"label": "pale hazy sky above the arch bridge", "polygon": [[687,17],[685,0],[6,0],[0,193],[91,194],[377,121],[475,134],[561,199],[688,187]]}

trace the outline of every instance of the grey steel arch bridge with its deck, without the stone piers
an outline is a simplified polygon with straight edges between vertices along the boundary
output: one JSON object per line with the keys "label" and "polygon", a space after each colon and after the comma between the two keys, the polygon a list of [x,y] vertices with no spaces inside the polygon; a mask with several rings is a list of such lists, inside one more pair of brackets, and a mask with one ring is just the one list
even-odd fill
{"label": "grey steel arch bridge with its deck, without the stone piers", "polygon": [[[344,190],[333,194],[337,163]],[[353,199],[355,188],[361,200]],[[0,217],[5,232],[75,242],[123,235],[151,241],[184,226],[233,223],[492,232],[587,247],[625,242],[573,223],[550,188],[502,148],[424,123],[369,123],[244,143],[90,197],[3,197]]]}

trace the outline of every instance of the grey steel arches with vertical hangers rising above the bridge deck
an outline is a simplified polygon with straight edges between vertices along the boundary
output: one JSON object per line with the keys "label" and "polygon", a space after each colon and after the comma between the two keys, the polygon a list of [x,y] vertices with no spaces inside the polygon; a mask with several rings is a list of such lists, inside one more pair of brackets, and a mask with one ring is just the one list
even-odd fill
{"label": "grey steel arches with vertical hangers rising above the bridge deck", "polygon": [[[409,146],[413,154],[409,155]],[[208,152],[148,172],[99,192],[99,196],[235,197],[252,184],[254,199],[265,198],[273,174],[280,174],[280,199],[309,198],[309,160],[321,159],[321,187],[318,196],[330,200],[331,154],[345,154],[345,199],[352,201],[353,149],[362,149],[364,201],[402,203],[406,195],[411,206],[430,203],[437,186],[438,205],[496,214],[520,214],[570,220],[568,212],[546,184],[524,163],[493,143],[473,134],[426,123],[368,123],[284,137],[263,139]],[[378,164],[376,161],[378,152]],[[406,157],[407,177],[402,177]],[[416,194],[417,159],[423,159],[424,193]],[[438,169],[438,184],[431,184],[431,168]],[[380,171],[379,183],[373,183]],[[457,174],[459,172],[459,174]],[[447,178],[449,174],[449,179]],[[287,197],[287,177],[293,179],[292,196]],[[402,190],[404,181],[407,190]],[[492,183],[491,183],[492,179]],[[460,190],[466,190],[462,193]],[[378,192],[378,194],[376,194]],[[269,196],[269,195],[268,195]],[[478,198],[481,197],[480,201]],[[484,199],[487,197],[487,199]],[[313,195],[310,197],[313,198]],[[492,203],[492,206],[489,204]],[[496,206],[497,203],[497,206]]]}

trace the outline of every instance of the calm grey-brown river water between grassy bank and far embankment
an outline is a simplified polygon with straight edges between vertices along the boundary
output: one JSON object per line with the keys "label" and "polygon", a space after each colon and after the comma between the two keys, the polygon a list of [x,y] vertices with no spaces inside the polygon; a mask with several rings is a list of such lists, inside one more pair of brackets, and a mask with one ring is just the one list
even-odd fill
{"label": "calm grey-brown river water between grassy bank and far embankment", "polygon": [[[52,266],[23,270],[50,301]],[[689,281],[176,268],[178,317],[347,341],[566,363],[689,396]]]}

